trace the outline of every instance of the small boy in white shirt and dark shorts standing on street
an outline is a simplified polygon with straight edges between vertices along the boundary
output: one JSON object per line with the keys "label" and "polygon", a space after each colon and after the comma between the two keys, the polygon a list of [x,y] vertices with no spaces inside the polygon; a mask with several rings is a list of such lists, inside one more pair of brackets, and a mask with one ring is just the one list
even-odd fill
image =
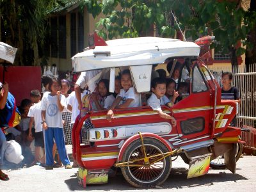
{"label": "small boy in white shirt and dark shorts standing on street", "polygon": [[31,101],[34,103],[28,111],[28,116],[30,117],[28,137],[30,140],[33,140],[32,127],[33,124],[35,124],[35,160],[31,165],[35,163],[45,164],[45,156],[40,158],[40,148],[44,151],[44,132],[41,124],[41,94],[38,90],[32,90],[30,97]]}

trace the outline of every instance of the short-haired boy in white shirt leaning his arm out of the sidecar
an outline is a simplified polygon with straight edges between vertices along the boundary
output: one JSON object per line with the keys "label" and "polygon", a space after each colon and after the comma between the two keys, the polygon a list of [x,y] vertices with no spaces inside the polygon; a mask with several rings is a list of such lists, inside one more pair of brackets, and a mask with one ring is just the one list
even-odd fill
{"label": "short-haired boy in white shirt leaning his arm out of the sidecar", "polygon": [[164,105],[163,96],[166,92],[166,81],[165,79],[161,79],[160,77],[157,77],[152,80],[151,83],[151,91],[152,95],[148,99],[148,106],[150,106],[154,111],[157,111],[159,116],[161,118],[170,119],[172,121],[172,125],[176,125],[176,120],[173,116],[170,116],[166,113],[164,113],[161,109],[161,105]]}

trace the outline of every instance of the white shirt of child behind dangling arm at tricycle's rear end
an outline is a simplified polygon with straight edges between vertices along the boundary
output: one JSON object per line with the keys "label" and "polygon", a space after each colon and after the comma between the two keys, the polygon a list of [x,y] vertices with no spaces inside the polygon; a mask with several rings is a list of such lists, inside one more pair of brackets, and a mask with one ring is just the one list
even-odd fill
{"label": "white shirt of child behind dangling arm at tricycle's rear end", "polygon": [[[83,98],[84,95],[88,94],[87,91],[84,91],[83,93],[81,93],[81,97]],[[71,113],[71,124],[74,124],[76,121],[76,117],[77,115],[79,115],[80,111],[78,109],[78,102],[76,99],[76,93],[72,92],[70,93],[70,95],[68,96],[67,99],[67,104],[72,106],[72,113]]]}

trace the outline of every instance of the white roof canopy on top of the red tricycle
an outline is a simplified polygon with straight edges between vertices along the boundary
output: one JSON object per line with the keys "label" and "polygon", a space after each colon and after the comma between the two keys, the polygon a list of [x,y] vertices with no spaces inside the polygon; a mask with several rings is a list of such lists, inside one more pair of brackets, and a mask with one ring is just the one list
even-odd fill
{"label": "white roof canopy on top of the red tricycle", "polygon": [[109,67],[164,63],[166,58],[198,56],[200,47],[193,42],[159,37],[109,40],[108,46],[96,46],[72,57],[76,72]]}

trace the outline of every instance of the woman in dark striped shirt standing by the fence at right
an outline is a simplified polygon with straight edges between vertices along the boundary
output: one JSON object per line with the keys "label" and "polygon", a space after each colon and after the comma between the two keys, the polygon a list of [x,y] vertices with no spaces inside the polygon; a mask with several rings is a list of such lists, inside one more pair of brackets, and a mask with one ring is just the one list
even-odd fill
{"label": "woman in dark striped shirt standing by the fence at right", "polygon": [[[221,88],[221,99],[223,100],[234,100],[238,104],[241,103],[239,91],[235,86],[232,86],[232,78],[233,75],[230,72],[223,72],[221,83],[223,87]],[[231,126],[236,127],[236,116],[233,118],[232,122],[230,123]]]}

